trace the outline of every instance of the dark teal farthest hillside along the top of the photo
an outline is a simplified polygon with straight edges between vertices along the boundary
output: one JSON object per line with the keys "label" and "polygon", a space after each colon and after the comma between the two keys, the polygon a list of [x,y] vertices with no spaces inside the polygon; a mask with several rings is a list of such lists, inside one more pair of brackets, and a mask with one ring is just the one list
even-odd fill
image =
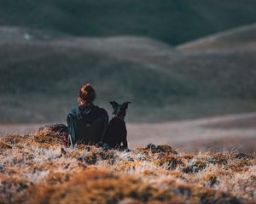
{"label": "dark teal farthest hillside along the top of the photo", "polygon": [[0,25],[187,42],[256,21],[253,0],[1,0]]}

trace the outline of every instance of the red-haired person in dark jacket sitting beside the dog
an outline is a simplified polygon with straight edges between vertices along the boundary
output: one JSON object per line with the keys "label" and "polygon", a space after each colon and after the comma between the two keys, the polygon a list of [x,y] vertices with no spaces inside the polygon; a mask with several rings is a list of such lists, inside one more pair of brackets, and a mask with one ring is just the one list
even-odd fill
{"label": "red-haired person in dark jacket sitting beside the dog", "polygon": [[[67,116],[68,141],[75,144],[98,144],[108,127],[108,112],[93,104],[96,91],[90,83],[79,89],[79,105]],[[64,141],[65,144],[65,141]]]}

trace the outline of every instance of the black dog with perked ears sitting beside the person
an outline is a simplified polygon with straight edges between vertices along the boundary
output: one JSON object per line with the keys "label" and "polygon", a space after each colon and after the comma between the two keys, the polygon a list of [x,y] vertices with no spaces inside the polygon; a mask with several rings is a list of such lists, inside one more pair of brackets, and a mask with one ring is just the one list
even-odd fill
{"label": "black dog with perked ears sitting beside the person", "polygon": [[107,143],[111,148],[128,149],[126,139],[127,129],[124,119],[128,104],[131,104],[131,102],[125,102],[122,105],[119,105],[115,101],[109,103],[113,107],[113,118],[108,124],[108,129],[103,136],[102,142]]}

